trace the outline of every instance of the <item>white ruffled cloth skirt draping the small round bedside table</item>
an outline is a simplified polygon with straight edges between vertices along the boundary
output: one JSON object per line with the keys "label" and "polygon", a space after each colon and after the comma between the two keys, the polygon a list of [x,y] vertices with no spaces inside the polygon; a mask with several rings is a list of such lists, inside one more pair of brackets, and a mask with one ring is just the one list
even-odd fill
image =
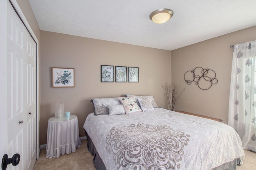
{"label": "white ruffled cloth skirt draping the small round bedside table", "polygon": [[46,158],[58,158],[60,154],[76,152],[80,145],[76,115],[70,115],[69,120],[65,117],[48,120]]}

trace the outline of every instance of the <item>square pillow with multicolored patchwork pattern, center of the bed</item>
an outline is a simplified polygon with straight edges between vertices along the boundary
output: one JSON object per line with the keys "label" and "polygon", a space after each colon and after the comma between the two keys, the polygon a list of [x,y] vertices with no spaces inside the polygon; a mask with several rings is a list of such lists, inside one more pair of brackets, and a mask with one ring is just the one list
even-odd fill
{"label": "square pillow with multicolored patchwork pattern, center of the bed", "polygon": [[124,106],[126,114],[142,111],[140,107],[137,105],[134,97],[119,97],[119,100]]}

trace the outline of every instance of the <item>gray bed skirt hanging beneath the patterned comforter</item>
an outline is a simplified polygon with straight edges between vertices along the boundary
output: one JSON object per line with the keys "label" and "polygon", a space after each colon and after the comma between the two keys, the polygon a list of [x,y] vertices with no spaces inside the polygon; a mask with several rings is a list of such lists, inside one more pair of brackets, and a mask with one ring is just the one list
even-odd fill
{"label": "gray bed skirt hanging beneath the patterned comforter", "polygon": [[[92,160],[94,167],[96,168],[96,170],[106,170],[106,167],[105,167],[102,159],[100,158],[90,136],[87,134],[86,131],[85,131],[85,134],[87,137],[88,151],[94,156],[94,158]],[[236,170],[236,165],[238,165],[239,163],[240,163],[240,158],[237,158],[231,162],[224,163],[216,168],[213,168],[212,170]]]}

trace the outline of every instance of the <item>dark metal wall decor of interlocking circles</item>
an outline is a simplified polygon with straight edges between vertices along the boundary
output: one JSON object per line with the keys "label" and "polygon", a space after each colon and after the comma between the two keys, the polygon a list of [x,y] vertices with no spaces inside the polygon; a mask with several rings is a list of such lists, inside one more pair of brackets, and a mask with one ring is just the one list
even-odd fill
{"label": "dark metal wall decor of interlocking circles", "polygon": [[196,67],[193,70],[187,71],[184,74],[184,80],[188,85],[191,85],[194,81],[202,90],[208,90],[212,87],[212,85],[218,83],[215,71],[212,69],[203,69],[202,67]]}

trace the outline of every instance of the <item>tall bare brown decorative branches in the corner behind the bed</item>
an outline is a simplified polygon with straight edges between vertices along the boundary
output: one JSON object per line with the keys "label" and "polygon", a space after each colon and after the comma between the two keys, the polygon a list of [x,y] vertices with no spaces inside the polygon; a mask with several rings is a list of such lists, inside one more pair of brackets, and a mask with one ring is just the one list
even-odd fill
{"label": "tall bare brown decorative branches in the corner behind the bed", "polygon": [[169,109],[173,111],[175,104],[180,100],[180,95],[185,90],[185,88],[177,89],[176,85],[174,85],[173,83],[172,85],[168,85],[168,83],[165,83],[165,85],[162,85],[162,87],[164,88],[164,94],[167,98]]}

